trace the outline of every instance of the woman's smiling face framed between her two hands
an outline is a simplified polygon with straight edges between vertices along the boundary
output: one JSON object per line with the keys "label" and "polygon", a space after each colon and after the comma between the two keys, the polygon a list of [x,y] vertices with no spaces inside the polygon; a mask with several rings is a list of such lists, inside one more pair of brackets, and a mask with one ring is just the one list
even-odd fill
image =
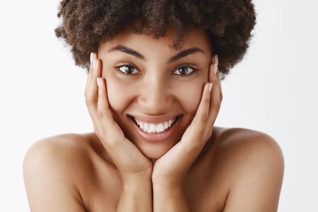
{"label": "woman's smiling face framed between her two hands", "polygon": [[[212,53],[204,31],[192,31],[181,49],[125,31],[100,45],[112,114],[125,136],[148,158],[158,159],[192,122],[208,81]],[[194,141],[196,142],[196,141]]]}

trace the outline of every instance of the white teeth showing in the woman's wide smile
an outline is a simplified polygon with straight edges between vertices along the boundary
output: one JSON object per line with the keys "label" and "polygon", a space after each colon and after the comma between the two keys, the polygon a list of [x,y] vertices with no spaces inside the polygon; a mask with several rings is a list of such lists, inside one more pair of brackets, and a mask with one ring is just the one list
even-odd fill
{"label": "white teeth showing in the woman's wide smile", "polygon": [[176,118],[170,119],[167,122],[163,122],[159,124],[151,124],[151,123],[141,122],[140,120],[136,119],[133,116],[131,117],[134,123],[146,133],[162,133],[168,130],[169,128],[171,128],[179,119],[179,116],[177,116]]}

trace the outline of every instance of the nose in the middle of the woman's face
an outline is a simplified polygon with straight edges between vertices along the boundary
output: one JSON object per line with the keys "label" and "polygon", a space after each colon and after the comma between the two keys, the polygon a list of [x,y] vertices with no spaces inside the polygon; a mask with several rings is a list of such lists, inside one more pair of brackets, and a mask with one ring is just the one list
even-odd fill
{"label": "nose in the middle of the woman's face", "polygon": [[145,113],[151,115],[163,114],[171,107],[173,95],[169,80],[164,77],[152,76],[145,78],[139,89],[138,103]]}

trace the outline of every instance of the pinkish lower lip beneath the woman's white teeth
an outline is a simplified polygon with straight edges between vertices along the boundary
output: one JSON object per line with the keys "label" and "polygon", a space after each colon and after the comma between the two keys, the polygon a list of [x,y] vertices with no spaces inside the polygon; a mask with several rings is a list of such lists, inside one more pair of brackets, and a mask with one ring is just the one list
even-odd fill
{"label": "pinkish lower lip beneath the woman's white teeth", "polygon": [[177,122],[174,123],[172,127],[168,128],[167,130],[161,133],[147,133],[143,131],[142,129],[140,129],[133,120],[131,120],[131,122],[133,124],[134,129],[136,130],[136,132],[141,138],[143,138],[146,141],[159,142],[159,141],[168,140],[173,135],[173,133],[176,131],[180,123],[180,119],[181,117],[178,118]]}

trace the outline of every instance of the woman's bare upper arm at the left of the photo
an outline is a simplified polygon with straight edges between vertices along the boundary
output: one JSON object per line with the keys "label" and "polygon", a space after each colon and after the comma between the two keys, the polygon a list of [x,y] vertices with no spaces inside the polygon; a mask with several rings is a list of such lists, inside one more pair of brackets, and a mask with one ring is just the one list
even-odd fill
{"label": "woman's bare upper arm at the left of the photo", "polygon": [[67,148],[52,139],[31,146],[25,155],[23,175],[33,212],[85,211],[68,164]]}

